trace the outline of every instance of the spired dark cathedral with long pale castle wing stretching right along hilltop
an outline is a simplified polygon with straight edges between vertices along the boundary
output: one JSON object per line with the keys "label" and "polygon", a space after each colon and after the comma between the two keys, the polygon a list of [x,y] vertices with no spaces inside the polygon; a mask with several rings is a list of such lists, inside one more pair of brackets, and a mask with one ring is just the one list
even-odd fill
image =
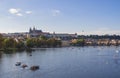
{"label": "spired dark cathedral with long pale castle wing stretching right along hilltop", "polygon": [[71,38],[77,38],[77,33],[75,34],[67,34],[67,33],[49,33],[49,32],[43,32],[42,30],[37,30],[35,27],[33,29],[29,29],[29,37],[39,37],[39,36],[45,36],[48,38],[60,38],[62,40],[68,40]]}

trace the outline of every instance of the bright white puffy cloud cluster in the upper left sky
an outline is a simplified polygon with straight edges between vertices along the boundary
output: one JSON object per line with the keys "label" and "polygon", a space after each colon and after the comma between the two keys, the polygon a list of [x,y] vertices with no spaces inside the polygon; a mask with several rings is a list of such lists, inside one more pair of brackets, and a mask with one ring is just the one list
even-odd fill
{"label": "bright white puffy cloud cluster in the upper left sky", "polygon": [[24,14],[31,14],[32,11],[23,11],[21,9],[17,8],[10,8],[9,10],[10,14],[16,15],[16,16],[23,16]]}

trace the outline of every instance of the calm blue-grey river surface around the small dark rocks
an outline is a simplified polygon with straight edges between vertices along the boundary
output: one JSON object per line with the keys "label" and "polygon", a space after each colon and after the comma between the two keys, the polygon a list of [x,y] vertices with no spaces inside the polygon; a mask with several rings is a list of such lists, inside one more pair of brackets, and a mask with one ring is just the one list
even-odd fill
{"label": "calm blue-grey river surface around the small dark rocks", "polygon": [[[15,66],[18,61],[28,68]],[[29,70],[33,65],[40,69]],[[120,78],[120,47],[43,48],[0,54],[0,78]]]}

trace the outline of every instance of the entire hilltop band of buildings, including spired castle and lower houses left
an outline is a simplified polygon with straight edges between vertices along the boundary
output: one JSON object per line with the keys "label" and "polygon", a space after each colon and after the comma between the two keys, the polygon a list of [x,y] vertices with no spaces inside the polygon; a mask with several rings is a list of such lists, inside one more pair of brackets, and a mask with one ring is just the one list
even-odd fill
{"label": "entire hilltop band of buildings, including spired castle and lower houses left", "polygon": [[49,32],[43,32],[42,30],[38,30],[37,28],[33,27],[29,29],[29,32],[21,32],[21,33],[2,33],[4,37],[7,38],[36,38],[40,36],[45,36],[47,38],[58,38],[61,40],[71,40],[73,38],[77,38],[77,33],[75,34],[68,34],[68,33],[49,33]]}

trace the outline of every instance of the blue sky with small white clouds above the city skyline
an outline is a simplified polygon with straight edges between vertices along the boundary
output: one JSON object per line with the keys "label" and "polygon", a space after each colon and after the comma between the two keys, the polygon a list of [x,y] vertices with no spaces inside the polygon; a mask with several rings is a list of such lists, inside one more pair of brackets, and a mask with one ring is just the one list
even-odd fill
{"label": "blue sky with small white clouds above the city skyline", "polygon": [[120,35],[120,0],[0,0],[0,33]]}

